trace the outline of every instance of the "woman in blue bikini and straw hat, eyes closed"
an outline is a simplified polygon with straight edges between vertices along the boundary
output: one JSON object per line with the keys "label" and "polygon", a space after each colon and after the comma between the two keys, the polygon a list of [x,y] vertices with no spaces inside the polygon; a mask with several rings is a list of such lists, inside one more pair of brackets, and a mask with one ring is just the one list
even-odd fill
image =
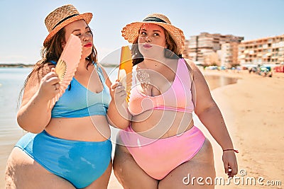
{"label": "woman in blue bikini and straw hat, eyes closed", "polygon": [[[107,188],[112,168],[107,114],[114,113],[115,93],[110,94],[111,81],[97,63],[91,19],[92,13],[81,14],[72,5],[45,18],[49,34],[42,59],[25,81],[17,113],[18,125],[28,133],[11,151],[6,188]],[[82,57],[70,85],[50,109],[48,101],[60,91],[54,68],[71,34],[82,42]]]}

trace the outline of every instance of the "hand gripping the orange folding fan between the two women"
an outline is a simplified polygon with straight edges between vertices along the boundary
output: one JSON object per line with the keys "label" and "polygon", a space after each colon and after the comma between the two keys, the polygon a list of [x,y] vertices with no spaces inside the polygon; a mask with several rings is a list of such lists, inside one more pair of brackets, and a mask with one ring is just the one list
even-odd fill
{"label": "hand gripping the orange folding fan between the two women", "polygon": [[126,102],[125,88],[118,80],[116,80],[113,84],[111,84],[110,93],[111,93],[111,98],[116,105],[121,105]]}

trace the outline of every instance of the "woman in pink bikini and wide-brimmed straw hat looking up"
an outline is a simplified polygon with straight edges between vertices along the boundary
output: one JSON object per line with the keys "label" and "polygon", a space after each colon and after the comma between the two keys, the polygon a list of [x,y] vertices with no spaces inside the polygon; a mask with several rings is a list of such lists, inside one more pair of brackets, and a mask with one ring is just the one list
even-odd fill
{"label": "woman in pink bikini and wide-brimmed straw hat looking up", "polygon": [[123,130],[113,164],[119,183],[124,188],[188,188],[184,178],[190,174],[213,180],[212,185],[203,180],[204,185],[194,183],[192,188],[214,188],[212,145],[195,126],[193,112],[222,147],[225,173],[236,175],[237,151],[222,113],[200,70],[181,57],[182,30],[153,13],[126,25],[122,36],[133,44],[136,81],[128,105],[117,108]]}

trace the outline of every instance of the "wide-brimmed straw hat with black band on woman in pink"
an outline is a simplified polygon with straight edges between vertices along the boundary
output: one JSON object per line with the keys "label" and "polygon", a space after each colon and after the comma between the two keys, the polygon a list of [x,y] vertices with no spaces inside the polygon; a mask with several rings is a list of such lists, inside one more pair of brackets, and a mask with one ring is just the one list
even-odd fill
{"label": "wide-brimmed straw hat with black band on woman in pink", "polygon": [[146,16],[142,22],[127,24],[121,31],[122,37],[130,43],[133,43],[138,37],[139,30],[144,23],[155,23],[165,28],[178,46],[178,55],[182,54],[182,51],[185,48],[185,35],[180,28],[177,28],[170,23],[167,16],[160,13],[151,13]]}

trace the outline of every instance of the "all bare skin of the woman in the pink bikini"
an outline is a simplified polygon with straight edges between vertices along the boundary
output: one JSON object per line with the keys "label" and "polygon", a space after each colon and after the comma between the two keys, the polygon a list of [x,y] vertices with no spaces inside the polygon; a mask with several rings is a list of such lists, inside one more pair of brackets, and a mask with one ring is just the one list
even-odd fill
{"label": "all bare skin of the woman in the pink bikini", "polygon": [[[147,87],[143,87],[144,84],[139,84],[137,88],[147,96],[159,96],[165,93],[175,79],[178,60],[165,57],[165,48],[167,48],[167,44],[163,28],[153,23],[143,24],[139,30],[138,49],[144,60],[137,64],[137,69],[144,69],[149,74],[151,83]],[[195,114],[206,125],[222,149],[232,149],[233,144],[226,125],[224,125],[222,114],[212,99],[204,76],[194,64],[190,64],[190,67],[195,76],[195,84],[192,86],[192,94],[196,94],[192,97],[195,104]],[[173,100],[174,98],[173,96]],[[215,121],[212,122],[212,120]],[[129,122],[121,121],[119,125],[126,128],[129,126]],[[193,125],[192,113],[170,110],[148,110],[131,118],[132,129],[138,134],[152,139],[173,137],[190,130]],[[212,145],[208,139],[205,139],[202,148],[192,159],[173,169],[160,181],[148,176],[143,171],[129,150],[124,147],[120,137],[117,142],[121,145],[116,145],[114,174],[124,188],[214,188],[214,185],[185,185],[182,183],[182,178],[188,173],[192,177],[210,177],[214,180],[214,156]],[[151,159],[145,159],[145,161],[151,161]],[[228,176],[234,176],[237,173],[234,151],[225,151],[223,161],[225,172]],[[229,166],[232,171],[229,171]],[[137,183],[141,184],[137,185]]]}

